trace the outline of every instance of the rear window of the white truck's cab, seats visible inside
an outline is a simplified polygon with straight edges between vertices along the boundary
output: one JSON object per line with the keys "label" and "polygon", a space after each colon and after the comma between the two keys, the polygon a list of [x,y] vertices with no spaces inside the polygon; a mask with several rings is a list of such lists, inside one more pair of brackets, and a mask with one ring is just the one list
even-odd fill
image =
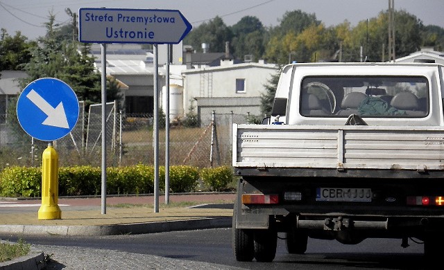
{"label": "rear window of the white truck's cab, seats visible inside", "polygon": [[429,84],[424,77],[306,77],[300,114],[308,117],[425,117]]}

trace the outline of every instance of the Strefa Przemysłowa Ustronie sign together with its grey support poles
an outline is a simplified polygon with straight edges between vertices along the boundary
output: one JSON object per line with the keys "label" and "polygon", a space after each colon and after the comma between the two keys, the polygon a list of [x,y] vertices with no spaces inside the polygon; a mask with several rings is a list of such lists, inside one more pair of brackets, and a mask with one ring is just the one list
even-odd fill
{"label": "Strefa Przemys\u0142owa Ustronie sign together with its grey support poles", "polygon": [[[80,8],[78,10],[78,40],[85,43],[129,43],[154,44],[154,211],[159,212],[159,138],[158,127],[158,91],[159,66],[157,58],[157,44],[178,44],[189,33],[192,26],[179,10],[143,10],[124,8]],[[105,54],[105,53],[102,53]],[[102,64],[106,62],[105,57]],[[168,63],[169,64],[169,63]],[[105,77],[102,73],[102,78]],[[102,87],[103,88],[103,87]],[[104,101],[102,100],[102,103]],[[104,117],[104,116],[102,116]],[[167,123],[168,125],[169,123]],[[105,127],[102,127],[105,134]],[[105,148],[105,140],[102,140]],[[105,159],[105,155],[102,155]],[[106,172],[102,165],[103,174]],[[102,186],[105,187],[106,176],[102,177]],[[166,178],[168,179],[168,178]],[[166,185],[168,186],[168,185]],[[103,190],[102,190],[103,191]],[[103,192],[102,192],[103,194]],[[105,201],[102,195],[102,201]],[[102,213],[106,213],[102,205]]]}

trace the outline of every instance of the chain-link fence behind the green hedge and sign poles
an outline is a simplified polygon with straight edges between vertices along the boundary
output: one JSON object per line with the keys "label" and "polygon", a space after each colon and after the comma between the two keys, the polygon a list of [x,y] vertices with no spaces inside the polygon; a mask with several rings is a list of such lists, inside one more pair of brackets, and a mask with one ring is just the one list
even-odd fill
{"label": "chain-link fence behind the green hedge and sign poles", "polygon": [[[80,102],[80,116],[71,132],[53,142],[59,166],[93,165],[102,162],[101,105],[85,112]],[[150,114],[122,114],[114,102],[106,105],[106,161],[108,166],[154,163],[153,116]],[[0,116],[0,118],[5,116]],[[201,115],[199,127],[169,125],[169,140],[165,138],[164,121],[159,127],[159,164],[164,165],[166,145],[169,143],[169,165],[193,165],[199,168],[231,165],[232,123],[247,123],[248,117],[239,114]],[[10,165],[40,166],[42,153],[48,142],[30,136],[16,136],[21,127],[0,121],[0,167]],[[176,123],[176,122],[175,122]],[[180,122],[179,122],[180,123]],[[22,132],[23,133],[23,132]]]}

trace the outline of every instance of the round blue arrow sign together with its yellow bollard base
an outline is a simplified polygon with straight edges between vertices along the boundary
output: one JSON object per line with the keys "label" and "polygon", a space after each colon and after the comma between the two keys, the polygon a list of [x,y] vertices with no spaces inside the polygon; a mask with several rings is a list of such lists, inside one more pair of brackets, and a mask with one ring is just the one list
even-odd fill
{"label": "round blue arrow sign together with its yellow bollard base", "polygon": [[17,119],[33,138],[49,141],[42,154],[42,206],[38,219],[61,219],[58,206],[58,154],[52,141],[66,136],[78,120],[78,100],[68,84],[42,78],[28,84],[17,100]]}

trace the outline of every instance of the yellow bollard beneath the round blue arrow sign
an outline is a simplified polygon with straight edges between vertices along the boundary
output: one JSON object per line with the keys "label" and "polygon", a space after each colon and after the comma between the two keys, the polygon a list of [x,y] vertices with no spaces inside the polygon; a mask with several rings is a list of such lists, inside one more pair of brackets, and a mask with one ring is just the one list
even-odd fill
{"label": "yellow bollard beneath the round blue arrow sign", "polygon": [[38,218],[62,218],[62,211],[58,207],[58,154],[52,143],[42,154],[42,206]]}

